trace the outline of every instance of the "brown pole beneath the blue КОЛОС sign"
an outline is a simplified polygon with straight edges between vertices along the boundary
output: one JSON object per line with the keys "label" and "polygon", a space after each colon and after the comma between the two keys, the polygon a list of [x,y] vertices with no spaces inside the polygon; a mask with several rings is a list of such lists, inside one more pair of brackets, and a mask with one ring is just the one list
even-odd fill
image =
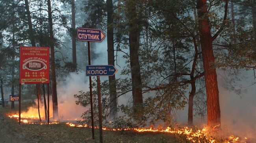
{"label": "brown pole beneath the blue \u041a\u041e\u041b\u041e\u0421 sign", "polygon": [[102,139],[102,107],[100,97],[100,76],[97,76],[97,87],[98,87],[98,109],[99,109],[99,125],[100,125],[100,143],[103,143]]}

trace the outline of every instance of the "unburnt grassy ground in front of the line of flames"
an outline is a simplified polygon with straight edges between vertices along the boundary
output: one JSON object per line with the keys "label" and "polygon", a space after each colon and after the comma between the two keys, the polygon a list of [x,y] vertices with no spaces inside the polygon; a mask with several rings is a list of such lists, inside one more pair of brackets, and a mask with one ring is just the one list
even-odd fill
{"label": "unburnt grassy ground in front of the line of flames", "polygon": [[[92,139],[91,128],[69,127],[66,123],[39,125],[21,124],[7,114],[16,109],[0,107],[0,143],[98,143],[99,130]],[[159,132],[135,132],[103,130],[104,143],[189,143],[186,138]]]}

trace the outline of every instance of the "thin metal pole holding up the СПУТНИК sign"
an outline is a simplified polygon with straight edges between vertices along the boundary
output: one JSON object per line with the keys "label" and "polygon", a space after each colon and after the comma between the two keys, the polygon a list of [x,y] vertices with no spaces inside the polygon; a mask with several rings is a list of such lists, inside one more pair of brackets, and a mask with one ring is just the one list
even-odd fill
{"label": "thin metal pole holding up the \u0421\u041f\u0423\u0422\u041d\u0418\u041a sign", "polygon": [[[88,45],[88,63],[91,65],[91,49],[90,49],[90,42],[87,42]],[[94,139],[94,121],[93,121],[93,87],[91,85],[91,76],[89,76],[89,83],[90,83],[90,100],[91,100],[91,132],[93,134]]]}

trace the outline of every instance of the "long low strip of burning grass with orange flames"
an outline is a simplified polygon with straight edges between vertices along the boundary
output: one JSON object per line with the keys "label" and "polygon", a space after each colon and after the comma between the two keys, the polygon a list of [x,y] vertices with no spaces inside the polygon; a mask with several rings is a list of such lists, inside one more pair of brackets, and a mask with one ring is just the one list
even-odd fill
{"label": "long low strip of burning grass with orange flames", "polygon": [[[18,116],[16,114],[14,115],[9,115],[9,118],[15,118],[16,120]],[[33,117],[33,118],[32,118]],[[40,124],[40,125],[45,125],[46,123],[37,123],[34,121],[31,121],[31,119],[36,119],[37,117],[31,116],[28,119],[22,119],[22,123],[25,124]],[[74,120],[76,121],[76,120]],[[80,125],[80,124],[75,124],[71,122],[67,123],[59,123],[59,122],[51,122],[50,124],[66,124],[69,127],[87,127],[91,128],[89,125]],[[95,127],[95,129],[98,129],[98,127]],[[249,143],[247,138],[240,139],[239,137],[235,137],[233,135],[228,135],[224,132],[219,132],[219,133],[214,133],[212,130],[208,130],[206,127],[203,129],[195,129],[195,128],[189,128],[189,127],[182,127],[182,128],[170,128],[167,127],[166,129],[154,129],[154,128],[135,128],[135,129],[113,129],[113,128],[107,128],[104,127],[103,130],[106,130],[108,132],[137,132],[138,134],[152,134],[154,136],[155,133],[157,134],[171,134],[174,137],[176,137],[180,141],[185,141],[185,142],[193,142],[193,143]],[[222,135],[217,135],[217,134],[222,134]],[[214,137],[213,137],[214,136]],[[164,141],[165,142],[165,141]],[[168,142],[168,141],[167,141]]]}

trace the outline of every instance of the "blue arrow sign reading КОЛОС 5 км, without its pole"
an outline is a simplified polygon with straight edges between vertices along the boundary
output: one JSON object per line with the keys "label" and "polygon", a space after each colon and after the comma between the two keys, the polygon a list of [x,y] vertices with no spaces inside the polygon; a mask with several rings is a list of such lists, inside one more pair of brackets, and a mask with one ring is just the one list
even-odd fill
{"label": "blue arrow sign reading \u041a\u041e\u041b\u041e\u0421 5 \u043a\u043c, without its pole", "polygon": [[113,76],[117,71],[113,65],[86,65],[86,76]]}

